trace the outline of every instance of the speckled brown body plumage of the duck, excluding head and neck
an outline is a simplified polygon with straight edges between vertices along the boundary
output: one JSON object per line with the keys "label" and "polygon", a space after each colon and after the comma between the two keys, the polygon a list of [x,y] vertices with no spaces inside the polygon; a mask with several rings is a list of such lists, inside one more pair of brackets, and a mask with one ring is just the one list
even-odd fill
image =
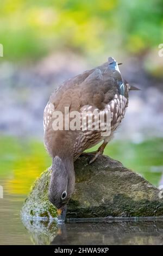
{"label": "speckled brown body plumage of the duck, excluding head and neck", "polygon": [[[98,112],[109,109],[112,115],[111,131],[114,131],[128,106],[129,86],[125,83],[124,95],[119,94],[118,78],[122,79],[121,74],[108,69],[106,62],[65,81],[54,90],[44,112],[45,146],[51,156],[58,155],[60,150],[64,154],[66,149],[77,159],[85,149],[104,139],[100,131],[53,131],[52,106],[55,111],[63,113],[65,106],[70,108],[70,112],[87,111],[88,108],[91,111],[98,109]],[[109,138],[105,139],[109,141]]]}

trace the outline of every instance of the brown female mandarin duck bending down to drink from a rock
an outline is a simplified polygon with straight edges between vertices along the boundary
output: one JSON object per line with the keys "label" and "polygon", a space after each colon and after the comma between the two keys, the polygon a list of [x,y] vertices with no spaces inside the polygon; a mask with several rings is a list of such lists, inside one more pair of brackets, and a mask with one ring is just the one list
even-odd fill
{"label": "brown female mandarin duck bending down to drink from a rock", "polygon": [[[130,87],[123,80],[118,63],[114,58],[109,57],[108,62],[103,65],[62,83],[49,98],[43,116],[45,147],[53,160],[49,200],[57,207],[60,218],[65,217],[66,204],[74,191],[74,160],[84,150],[101,141],[103,144],[93,153],[95,155],[90,163],[103,154],[106,144],[124,117],[128,106],[128,92],[131,89],[136,88]],[[65,107],[68,107],[69,112],[77,111],[80,120],[83,111],[89,113],[96,111],[104,115],[109,112],[111,118],[109,135],[104,137],[101,129],[93,129],[97,125],[95,118],[91,130],[88,126],[82,129],[85,125],[83,123],[81,129],[67,129],[65,124],[63,129],[54,129],[54,110],[65,113]],[[82,120],[85,120],[86,124],[89,122],[86,118]]]}

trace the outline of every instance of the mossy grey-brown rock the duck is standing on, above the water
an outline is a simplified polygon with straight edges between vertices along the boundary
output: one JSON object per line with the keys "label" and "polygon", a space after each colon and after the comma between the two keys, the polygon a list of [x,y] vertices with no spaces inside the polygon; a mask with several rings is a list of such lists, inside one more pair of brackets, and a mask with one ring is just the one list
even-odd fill
{"label": "mossy grey-brown rock the duck is standing on, above the water", "polygon": [[[122,165],[101,156],[91,165],[89,157],[74,163],[76,186],[66,218],[163,216],[159,190]],[[23,218],[55,218],[57,210],[48,200],[51,172],[43,172],[22,208]]]}

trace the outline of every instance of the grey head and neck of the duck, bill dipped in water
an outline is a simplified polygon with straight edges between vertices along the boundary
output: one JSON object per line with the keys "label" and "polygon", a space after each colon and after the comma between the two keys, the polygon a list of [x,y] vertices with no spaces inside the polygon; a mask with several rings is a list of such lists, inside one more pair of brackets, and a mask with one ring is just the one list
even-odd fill
{"label": "grey head and neck of the duck, bill dipped in water", "polygon": [[73,159],[55,156],[52,163],[51,181],[49,184],[49,200],[58,209],[58,218],[64,220],[66,205],[75,184]]}

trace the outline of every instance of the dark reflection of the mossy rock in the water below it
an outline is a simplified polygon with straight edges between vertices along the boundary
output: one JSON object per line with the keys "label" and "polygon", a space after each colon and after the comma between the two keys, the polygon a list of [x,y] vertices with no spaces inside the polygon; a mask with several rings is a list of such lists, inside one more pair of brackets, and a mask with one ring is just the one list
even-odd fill
{"label": "dark reflection of the mossy rock in the water below it", "polygon": [[162,221],[23,221],[35,245],[162,245]]}

